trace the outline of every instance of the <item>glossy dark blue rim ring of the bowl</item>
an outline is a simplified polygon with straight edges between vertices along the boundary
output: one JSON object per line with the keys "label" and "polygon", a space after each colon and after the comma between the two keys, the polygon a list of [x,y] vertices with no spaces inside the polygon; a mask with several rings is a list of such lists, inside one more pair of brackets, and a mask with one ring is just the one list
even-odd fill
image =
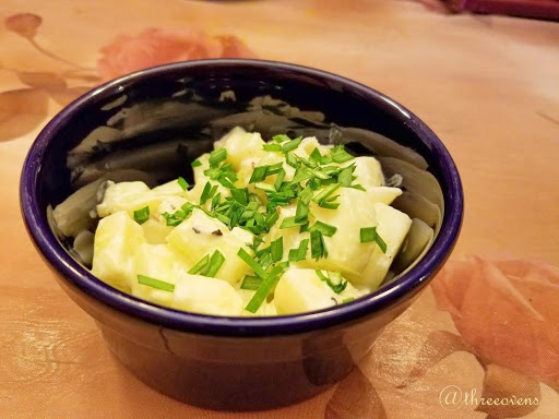
{"label": "glossy dark blue rim ring of the bowl", "polygon": [[[451,195],[448,200],[447,196],[444,199],[444,216],[439,235],[418,264],[385,288],[338,307],[294,315],[230,318],[189,313],[140,300],[108,286],[75,262],[57,241],[47,224],[46,213],[41,213],[38,203],[38,173],[49,143],[78,111],[117,95],[122,89],[122,85],[130,86],[157,74],[180,75],[181,72],[191,68],[211,69],[213,65],[237,69],[250,67],[263,71],[272,69],[318,76],[323,81],[341,84],[354,94],[358,93],[367,101],[381,103],[382,106],[392,108],[393,112],[406,116],[409,120],[408,124],[414,125],[416,135],[421,142],[427,143],[427,147],[433,154],[433,160],[440,161],[439,171],[445,178],[448,192]],[[450,255],[462,225],[464,196],[457,168],[438,136],[413,112],[378,91],[337,74],[293,63],[252,59],[211,59],[158,65],[123,75],[90,91],[64,107],[40,131],[27,153],[20,180],[20,204],[27,231],[44,259],[62,278],[90,297],[120,312],[168,328],[197,334],[242,337],[288,335],[336,326],[368,316],[412,297],[426,285]]]}

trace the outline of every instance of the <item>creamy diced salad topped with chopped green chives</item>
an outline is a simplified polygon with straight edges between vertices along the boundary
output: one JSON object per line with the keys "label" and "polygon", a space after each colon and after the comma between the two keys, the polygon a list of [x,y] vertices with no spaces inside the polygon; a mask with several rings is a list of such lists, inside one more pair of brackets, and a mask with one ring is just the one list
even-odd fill
{"label": "creamy diced salad topped with chopped green chives", "polygon": [[108,182],[93,274],[211,315],[284,315],[353,301],[389,274],[412,219],[374,157],[235,128],[178,178]]}

